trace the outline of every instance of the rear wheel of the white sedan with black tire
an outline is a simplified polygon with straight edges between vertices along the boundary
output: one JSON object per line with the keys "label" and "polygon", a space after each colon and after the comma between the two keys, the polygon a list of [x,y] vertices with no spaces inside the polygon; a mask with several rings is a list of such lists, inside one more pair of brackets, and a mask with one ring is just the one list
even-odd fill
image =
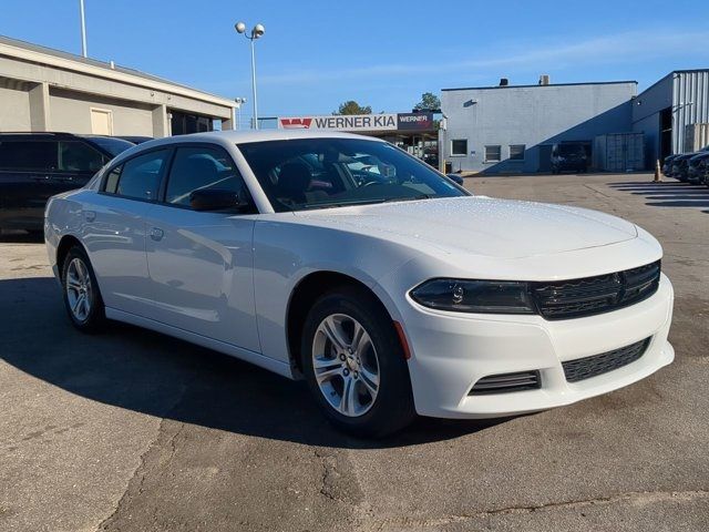
{"label": "rear wheel of the white sedan with black tire", "polygon": [[[74,282],[78,279],[75,273],[79,264],[83,265],[85,268],[88,282],[81,279],[79,283],[79,289],[69,289],[68,284],[70,283],[70,277]],[[81,246],[73,246],[69,249],[69,253],[66,253],[61,268],[62,298],[64,300],[64,308],[66,309],[66,314],[69,315],[69,319],[72,325],[82,332],[100,331],[105,324],[105,307],[99,289],[99,283],[96,283],[96,276],[93,273],[93,267],[91,266],[86,252],[84,252]],[[78,297],[70,295],[70,293],[83,294],[89,305],[85,316],[83,315],[84,313],[76,313],[72,309],[72,305],[76,303]],[[74,297],[73,300],[72,297]]]}

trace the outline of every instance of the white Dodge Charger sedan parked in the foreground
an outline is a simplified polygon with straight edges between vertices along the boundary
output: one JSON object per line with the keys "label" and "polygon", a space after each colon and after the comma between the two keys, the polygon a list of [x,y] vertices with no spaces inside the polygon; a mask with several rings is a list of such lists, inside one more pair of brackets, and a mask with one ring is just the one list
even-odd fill
{"label": "white Dodge Charger sedan parked in the foreground", "polygon": [[473,196],[374,139],[152,141],[45,218],[80,330],[126,321],[305,378],[357,434],[569,405],[674,359],[672,287],[647,232]]}

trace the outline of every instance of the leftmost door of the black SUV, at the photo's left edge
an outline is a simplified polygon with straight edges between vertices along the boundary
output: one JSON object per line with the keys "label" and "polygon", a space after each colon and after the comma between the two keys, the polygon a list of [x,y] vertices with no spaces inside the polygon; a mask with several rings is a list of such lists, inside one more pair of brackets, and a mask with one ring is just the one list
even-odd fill
{"label": "leftmost door of the black SUV, at the photo's left edge", "polygon": [[41,229],[47,201],[62,191],[53,178],[54,140],[0,137],[0,227]]}

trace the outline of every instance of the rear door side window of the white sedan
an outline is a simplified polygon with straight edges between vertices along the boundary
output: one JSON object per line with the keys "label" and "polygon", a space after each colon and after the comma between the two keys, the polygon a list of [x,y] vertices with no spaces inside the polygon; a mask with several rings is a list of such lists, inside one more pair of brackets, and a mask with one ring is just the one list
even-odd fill
{"label": "rear door side window of the white sedan", "polygon": [[155,200],[167,150],[133,157],[106,176],[105,192],[136,200]]}

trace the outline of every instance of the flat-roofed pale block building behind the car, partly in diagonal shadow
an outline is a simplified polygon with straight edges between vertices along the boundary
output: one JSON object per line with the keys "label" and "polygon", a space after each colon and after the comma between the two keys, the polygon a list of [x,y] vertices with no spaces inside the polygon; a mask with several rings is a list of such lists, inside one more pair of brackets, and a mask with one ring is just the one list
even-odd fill
{"label": "flat-roofed pale block building behind the car, partly in diagonal shadow", "polygon": [[441,144],[453,171],[551,171],[555,144],[631,131],[637,82],[443,89]]}

